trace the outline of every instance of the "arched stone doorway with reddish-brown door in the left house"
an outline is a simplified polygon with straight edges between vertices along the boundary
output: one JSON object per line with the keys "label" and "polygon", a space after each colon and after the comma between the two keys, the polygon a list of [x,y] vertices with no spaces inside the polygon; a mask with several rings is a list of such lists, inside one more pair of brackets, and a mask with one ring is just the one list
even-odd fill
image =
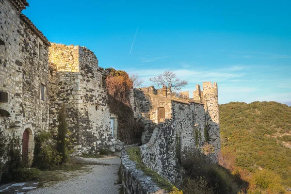
{"label": "arched stone doorway with reddish-brown door in the left house", "polygon": [[26,128],[22,132],[22,160],[30,164],[33,159],[34,136],[30,128]]}

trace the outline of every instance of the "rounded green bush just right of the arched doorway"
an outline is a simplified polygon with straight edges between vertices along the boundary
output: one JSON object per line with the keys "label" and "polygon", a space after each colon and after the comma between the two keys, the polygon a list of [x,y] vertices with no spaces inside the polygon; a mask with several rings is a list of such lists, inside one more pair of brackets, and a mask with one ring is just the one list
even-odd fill
{"label": "rounded green bush just right of the arched doorway", "polygon": [[32,166],[39,169],[51,169],[59,165],[62,156],[56,149],[56,141],[53,140],[51,133],[42,131],[36,135],[34,147],[34,158]]}

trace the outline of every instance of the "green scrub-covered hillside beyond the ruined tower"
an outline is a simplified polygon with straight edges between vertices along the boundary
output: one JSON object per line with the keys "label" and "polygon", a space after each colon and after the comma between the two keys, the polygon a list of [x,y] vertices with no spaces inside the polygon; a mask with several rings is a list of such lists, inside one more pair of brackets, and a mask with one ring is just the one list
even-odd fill
{"label": "green scrub-covered hillside beyond the ruined tower", "polygon": [[277,102],[230,102],[219,109],[227,167],[240,171],[241,177],[256,176],[264,169],[273,179],[280,175],[278,182],[290,187],[291,107]]}

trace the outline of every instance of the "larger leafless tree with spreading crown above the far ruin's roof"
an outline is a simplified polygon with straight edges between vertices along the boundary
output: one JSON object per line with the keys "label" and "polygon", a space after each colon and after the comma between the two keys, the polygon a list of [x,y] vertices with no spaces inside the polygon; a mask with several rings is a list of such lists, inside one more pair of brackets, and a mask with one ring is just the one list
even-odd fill
{"label": "larger leafless tree with spreading crown above the far ruin's roof", "polygon": [[177,92],[182,87],[188,85],[188,81],[180,80],[177,78],[176,74],[173,71],[164,71],[162,74],[157,77],[150,78],[149,81],[152,81],[154,85],[162,88],[163,85],[166,85],[170,92]]}

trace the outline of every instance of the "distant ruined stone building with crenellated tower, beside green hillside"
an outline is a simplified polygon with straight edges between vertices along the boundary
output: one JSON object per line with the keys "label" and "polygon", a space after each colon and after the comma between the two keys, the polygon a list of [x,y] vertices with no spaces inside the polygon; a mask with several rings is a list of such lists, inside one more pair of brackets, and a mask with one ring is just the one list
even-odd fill
{"label": "distant ruined stone building with crenellated tower, beside green hillside", "polygon": [[172,119],[181,150],[200,149],[207,141],[217,154],[220,151],[217,83],[212,87],[211,82],[203,82],[203,91],[199,85],[196,88],[193,98],[189,98],[189,92],[183,92],[183,99],[171,97],[166,86],[158,90],[154,86],[134,89],[134,116],[157,124]]}

